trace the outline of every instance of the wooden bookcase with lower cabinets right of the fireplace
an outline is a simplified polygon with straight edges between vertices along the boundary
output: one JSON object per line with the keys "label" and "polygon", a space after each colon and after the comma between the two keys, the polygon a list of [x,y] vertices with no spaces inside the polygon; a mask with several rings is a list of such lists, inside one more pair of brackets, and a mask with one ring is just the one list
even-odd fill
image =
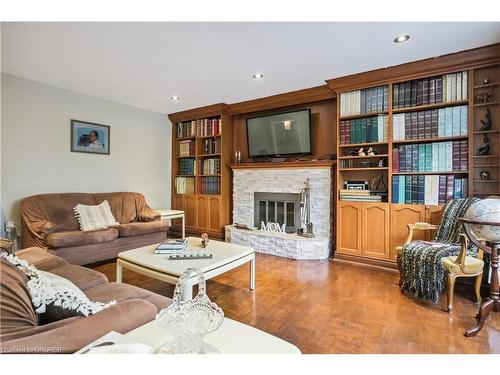
{"label": "wooden bookcase with lower cabinets right of the fireplace", "polygon": [[[457,64],[451,57],[436,59],[422,62],[415,62],[397,67],[385,68],[373,72],[361,73],[353,76],[342,77],[327,81],[329,87],[335,90],[338,98],[337,103],[337,191],[336,191],[336,257],[349,260],[360,261],[364,263],[373,263],[377,265],[394,264],[396,260],[396,247],[404,243],[408,229],[407,224],[418,221],[430,222],[439,224],[441,220],[443,205],[425,205],[425,204],[400,204],[392,203],[392,177],[393,176],[435,176],[446,175],[467,178],[468,195],[487,196],[498,188],[500,182],[500,172],[498,170],[500,162],[498,160],[499,144],[496,140],[499,137],[498,131],[500,125],[500,106],[491,103],[489,106],[474,105],[475,90],[494,90],[497,93],[500,82],[500,77],[489,77],[488,84],[481,84],[482,80],[475,75],[476,66],[484,66],[477,58],[473,60],[471,56],[467,63],[462,65]],[[495,57],[498,62],[500,58]],[[443,62],[441,62],[443,61]],[[444,62],[446,61],[446,63]],[[489,60],[491,61],[491,60]],[[404,68],[402,68],[404,66]],[[396,84],[401,84],[407,81],[418,81],[422,79],[430,79],[432,77],[454,74],[457,72],[467,72],[467,97],[461,100],[448,100],[443,98],[443,102],[432,103],[426,105],[413,105],[403,108],[393,108],[393,88]],[[458,76],[457,76],[458,77]],[[355,90],[363,90],[371,87],[384,86],[388,87],[389,91],[389,107],[380,113],[361,114],[354,116],[340,116],[340,107],[342,107],[341,94],[349,93]],[[347,96],[346,96],[347,97]],[[494,97],[494,102],[498,101],[499,96]],[[421,103],[419,103],[421,104]],[[448,136],[448,137],[428,137],[420,139],[393,139],[394,130],[394,115],[404,113],[414,113],[427,110],[441,110],[448,107],[466,106],[466,135]],[[477,127],[477,114],[480,111],[485,111],[486,107],[494,109],[492,117],[498,119],[492,129],[487,131],[479,131]],[[345,107],[344,107],[345,108]],[[462,109],[461,109],[462,110]],[[493,111],[493,109],[490,109]],[[388,139],[384,142],[375,143],[356,143],[356,144],[341,144],[340,122],[370,117],[375,115],[388,116]],[[495,121],[495,120],[494,120]],[[478,141],[482,140],[484,134],[490,137],[492,143],[492,155],[475,156]],[[494,138],[494,139],[492,139]],[[467,141],[468,143],[468,160],[466,170],[447,170],[447,171],[414,171],[400,172],[393,171],[393,149],[394,147],[428,144],[434,142],[454,142]],[[359,148],[373,147],[379,152],[379,155],[368,157],[358,157],[348,155],[349,151]],[[387,166],[383,168],[342,168],[344,161],[359,161],[360,159],[373,160],[383,159],[387,162]],[[489,161],[494,159],[494,161]],[[476,163],[476,165],[474,164]],[[495,171],[492,173],[491,181],[484,182],[479,180],[479,170],[487,169]],[[374,179],[383,179],[383,183],[387,186],[387,202],[369,203],[341,200],[339,191],[343,188],[343,183],[346,180],[354,181],[373,181]],[[485,188],[486,186],[486,188]],[[418,233],[416,238],[431,240],[433,233]],[[421,237],[419,237],[421,236]]]}

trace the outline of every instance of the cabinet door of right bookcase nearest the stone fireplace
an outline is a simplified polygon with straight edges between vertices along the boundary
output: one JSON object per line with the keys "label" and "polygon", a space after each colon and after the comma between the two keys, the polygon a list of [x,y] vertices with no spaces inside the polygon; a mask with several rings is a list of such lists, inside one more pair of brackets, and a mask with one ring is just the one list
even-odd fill
{"label": "cabinet door of right bookcase nearest the stone fireplace", "polygon": [[337,251],[361,255],[361,205],[357,202],[339,202],[337,216]]}

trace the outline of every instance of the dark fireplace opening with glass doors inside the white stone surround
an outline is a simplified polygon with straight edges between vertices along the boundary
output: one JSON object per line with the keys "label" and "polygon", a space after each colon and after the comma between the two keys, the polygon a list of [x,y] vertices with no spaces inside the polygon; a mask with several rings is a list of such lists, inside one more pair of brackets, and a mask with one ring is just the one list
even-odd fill
{"label": "dark fireplace opening with glass doors inside the white stone surround", "polygon": [[300,226],[300,194],[254,193],[254,226],[261,222],[285,224],[287,233],[297,232]]}

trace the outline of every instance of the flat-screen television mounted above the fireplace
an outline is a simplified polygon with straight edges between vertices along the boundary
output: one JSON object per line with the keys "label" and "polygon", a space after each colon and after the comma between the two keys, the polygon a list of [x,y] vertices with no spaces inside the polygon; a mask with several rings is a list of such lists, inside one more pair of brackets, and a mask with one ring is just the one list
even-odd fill
{"label": "flat-screen television mounted above the fireplace", "polygon": [[247,119],[248,156],[311,153],[311,110]]}

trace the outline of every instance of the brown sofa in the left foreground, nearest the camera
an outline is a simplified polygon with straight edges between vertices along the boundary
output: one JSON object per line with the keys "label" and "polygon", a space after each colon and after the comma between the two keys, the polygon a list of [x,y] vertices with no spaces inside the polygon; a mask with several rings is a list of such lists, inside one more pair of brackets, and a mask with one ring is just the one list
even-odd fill
{"label": "brown sofa in the left foreground, nearest the camera", "polygon": [[72,281],[92,301],[113,305],[89,317],[72,317],[40,325],[26,288],[26,276],[5,259],[0,264],[0,353],[74,353],[110,331],[126,333],[155,318],[171,300],[105,275],[68,264],[45,249],[28,248],[16,255],[38,269]]}

